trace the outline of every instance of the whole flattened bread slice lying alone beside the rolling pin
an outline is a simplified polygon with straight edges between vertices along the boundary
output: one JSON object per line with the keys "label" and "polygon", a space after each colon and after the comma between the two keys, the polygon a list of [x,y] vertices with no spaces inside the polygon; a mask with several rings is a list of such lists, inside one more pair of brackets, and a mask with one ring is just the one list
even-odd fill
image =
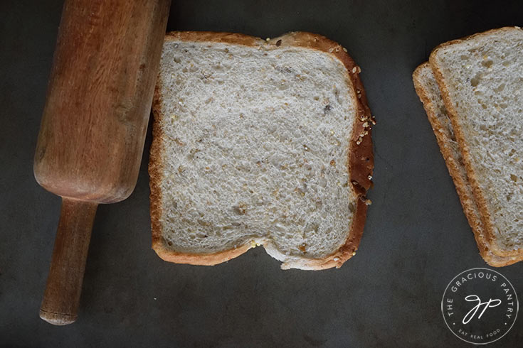
{"label": "whole flattened bread slice lying alone beside the rolling pin", "polygon": [[263,245],[284,269],[352,257],[374,167],[360,71],[312,33],[169,33],[149,161],[157,254],[214,265]]}

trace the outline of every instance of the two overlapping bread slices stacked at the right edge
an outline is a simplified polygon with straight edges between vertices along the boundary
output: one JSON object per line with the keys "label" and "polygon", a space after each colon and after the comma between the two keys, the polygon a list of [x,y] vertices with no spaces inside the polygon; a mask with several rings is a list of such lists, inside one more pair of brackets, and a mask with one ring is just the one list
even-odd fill
{"label": "two overlapping bread slices stacked at the right edge", "polygon": [[438,45],[413,73],[480,254],[523,260],[523,30]]}

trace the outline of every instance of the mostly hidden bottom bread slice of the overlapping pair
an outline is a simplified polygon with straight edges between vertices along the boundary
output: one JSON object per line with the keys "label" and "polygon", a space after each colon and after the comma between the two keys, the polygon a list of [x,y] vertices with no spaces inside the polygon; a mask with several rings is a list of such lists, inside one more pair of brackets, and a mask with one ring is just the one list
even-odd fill
{"label": "mostly hidden bottom bread slice of the overlapping pair", "polygon": [[485,234],[480,211],[472,193],[472,186],[467,177],[463,156],[455,139],[453,126],[450,123],[438,83],[428,62],[424,62],[414,70],[413,82],[438,141],[440,151],[445,158],[450,176],[453,178],[465,216],[470,227],[472,227],[472,232],[474,232],[480,255],[490,266],[494,267],[507,266],[522,261],[523,255],[497,256],[492,253],[490,241]]}

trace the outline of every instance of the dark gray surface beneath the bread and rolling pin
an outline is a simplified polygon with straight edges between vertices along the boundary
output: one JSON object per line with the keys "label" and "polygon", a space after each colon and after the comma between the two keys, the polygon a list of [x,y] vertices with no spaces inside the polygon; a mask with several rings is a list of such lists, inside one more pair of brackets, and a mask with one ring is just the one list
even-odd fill
{"label": "dark gray surface beneath the bread and rolling pin", "polygon": [[[339,270],[280,271],[257,248],[228,263],[166,263],[150,249],[150,125],[136,190],[99,207],[78,322],[38,318],[60,199],[33,151],[61,1],[0,1],[1,347],[470,347],[445,327],[447,283],[480,258],[411,73],[445,40],[521,25],[521,1],[176,1],[169,30],[321,33],[361,65],[374,132],[373,201]],[[523,263],[498,269],[523,290]],[[523,318],[489,347],[521,347]]]}

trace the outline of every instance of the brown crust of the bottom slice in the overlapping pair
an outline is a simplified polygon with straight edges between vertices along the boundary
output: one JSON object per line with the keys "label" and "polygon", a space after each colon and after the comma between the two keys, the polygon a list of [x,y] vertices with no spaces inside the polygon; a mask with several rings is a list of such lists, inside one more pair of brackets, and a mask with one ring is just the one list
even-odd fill
{"label": "brown crust of the bottom slice in the overlapping pair", "polygon": [[474,233],[474,239],[477,244],[477,249],[479,249],[481,257],[485,260],[485,262],[487,262],[490,266],[493,267],[508,266],[512,263],[522,261],[523,255],[517,258],[497,256],[492,253],[492,250],[490,250],[490,243],[486,239],[485,230],[483,229],[481,219],[475,210],[476,203],[474,197],[470,197],[470,195],[467,194],[467,190],[465,189],[465,187],[470,186],[470,183],[468,181],[468,178],[466,176],[463,176],[459,170],[460,166],[463,166],[463,163],[458,158],[455,158],[453,156],[453,153],[448,150],[447,146],[445,146],[446,143],[448,143],[449,139],[444,133],[440,131],[443,129],[443,125],[440,123],[440,121],[438,121],[435,106],[430,101],[430,97],[428,97],[428,92],[426,91],[425,87],[423,86],[423,83],[421,82],[421,71],[425,68],[430,69],[430,64],[428,62],[424,62],[423,64],[418,66],[416,70],[414,70],[412,74],[414,89],[416,89],[416,94],[418,94],[418,97],[423,103],[423,108],[427,113],[428,121],[430,122],[430,126],[432,126],[434,135],[436,137],[436,140],[438,141],[438,146],[440,148],[441,154],[443,155],[443,159],[445,160],[445,164],[447,165],[450,177],[453,179],[456,191],[458,192],[458,197],[460,197],[463,212],[465,212],[465,217],[467,217],[468,223],[472,228],[472,232]]}

